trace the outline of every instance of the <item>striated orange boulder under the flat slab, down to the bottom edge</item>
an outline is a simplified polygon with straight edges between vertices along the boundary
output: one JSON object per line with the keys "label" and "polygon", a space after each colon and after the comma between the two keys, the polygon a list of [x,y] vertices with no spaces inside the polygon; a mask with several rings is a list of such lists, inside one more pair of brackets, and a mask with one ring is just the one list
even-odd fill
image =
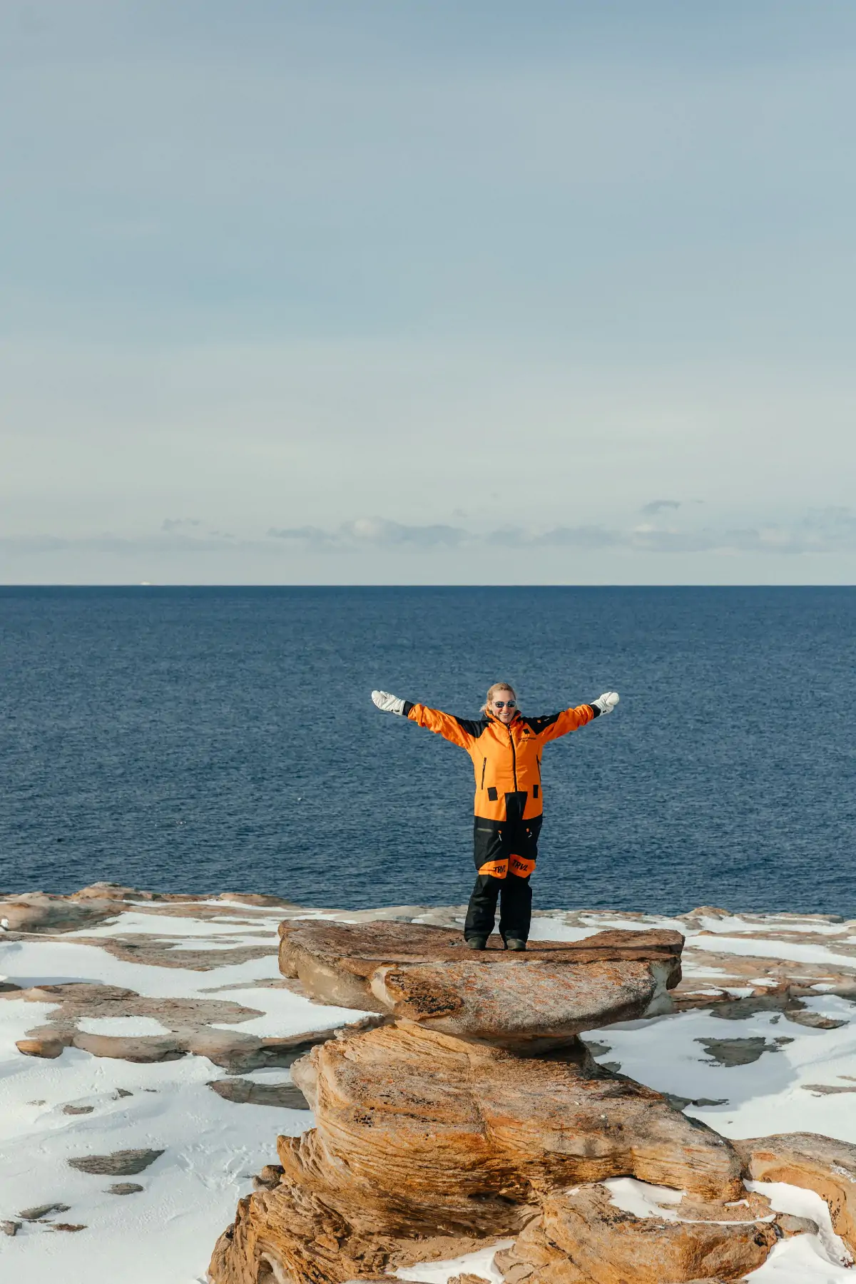
{"label": "striated orange boulder under the flat slab, down to the bottom edge", "polygon": [[[280,1138],[282,1174],[241,1201],[212,1260],[216,1284],[257,1284],[266,1261],[287,1284],[330,1284],[456,1257],[520,1231],[576,1180],[633,1172],[699,1198],[742,1194],[724,1139],[581,1048],[575,1061],[521,1059],[390,1026],[299,1067],[318,1126]],[[588,1284],[570,1261],[543,1279]]]}

